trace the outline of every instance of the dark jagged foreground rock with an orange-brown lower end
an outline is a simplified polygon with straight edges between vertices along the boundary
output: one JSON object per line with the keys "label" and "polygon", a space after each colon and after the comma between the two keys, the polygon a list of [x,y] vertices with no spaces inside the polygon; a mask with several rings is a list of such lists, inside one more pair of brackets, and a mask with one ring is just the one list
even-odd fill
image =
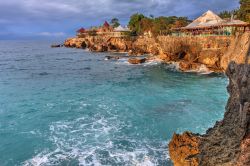
{"label": "dark jagged foreground rock with an orange-brown lower end", "polygon": [[224,119],[204,135],[174,134],[169,143],[176,166],[250,165],[250,65],[231,62]]}

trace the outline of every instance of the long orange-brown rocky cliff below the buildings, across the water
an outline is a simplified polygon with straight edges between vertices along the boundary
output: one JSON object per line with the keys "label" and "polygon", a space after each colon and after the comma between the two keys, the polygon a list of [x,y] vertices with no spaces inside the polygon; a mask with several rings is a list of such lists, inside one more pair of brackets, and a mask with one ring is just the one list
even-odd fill
{"label": "long orange-brown rocky cliff below the buildings, across the water", "polygon": [[244,62],[249,43],[247,32],[236,36],[86,36],[69,38],[64,46],[94,52],[127,52],[132,56],[151,55],[143,61],[134,58],[130,60],[132,64],[156,59],[163,63],[177,62],[181,71],[199,71],[205,66],[210,71],[225,72],[230,61]]}

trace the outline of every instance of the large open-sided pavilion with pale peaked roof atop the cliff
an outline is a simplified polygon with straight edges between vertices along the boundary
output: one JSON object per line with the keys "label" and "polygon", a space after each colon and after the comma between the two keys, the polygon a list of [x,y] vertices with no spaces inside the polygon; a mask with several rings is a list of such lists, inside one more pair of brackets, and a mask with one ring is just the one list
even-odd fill
{"label": "large open-sided pavilion with pale peaked roof atop the cliff", "polygon": [[250,24],[231,19],[222,19],[212,11],[207,11],[186,27],[173,29],[174,36],[233,35],[250,31]]}

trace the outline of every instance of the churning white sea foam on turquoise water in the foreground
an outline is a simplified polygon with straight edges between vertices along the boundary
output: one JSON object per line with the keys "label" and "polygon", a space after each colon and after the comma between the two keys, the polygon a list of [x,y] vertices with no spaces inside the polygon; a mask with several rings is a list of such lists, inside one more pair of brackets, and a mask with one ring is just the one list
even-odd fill
{"label": "churning white sea foam on turquoise water in the foreground", "polygon": [[[104,105],[100,108],[107,109]],[[108,117],[108,118],[107,118]],[[169,158],[166,150],[167,142],[159,142],[160,146],[151,145],[148,140],[133,140],[131,138],[114,137],[129,124],[120,122],[114,115],[103,117],[80,117],[73,121],[59,121],[50,125],[49,139],[55,145],[55,150],[44,150],[33,158],[25,161],[23,165],[43,166],[60,165],[61,162],[78,161],[79,165],[158,165],[159,158],[153,154],[162,154],[160,158]],[[136,144],[133,150],[127,151],[115,140],[125,139],[129,143]],[[155,142],[153,142],[154,144]],[[166,154],[164,154],[166,153]]]}

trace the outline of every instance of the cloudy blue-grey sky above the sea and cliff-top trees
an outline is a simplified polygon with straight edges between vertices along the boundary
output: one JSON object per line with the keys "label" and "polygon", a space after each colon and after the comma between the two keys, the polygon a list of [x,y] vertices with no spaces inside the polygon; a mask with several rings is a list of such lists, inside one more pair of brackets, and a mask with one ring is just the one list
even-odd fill
{"label": "cloudy blue-grey sky above the sea and cliff-top trees", "polygon": [[137,12],[195,19],[238,7],[238,0],[0,0],[0,40],[66,38],[114,17],[126,25]]}

